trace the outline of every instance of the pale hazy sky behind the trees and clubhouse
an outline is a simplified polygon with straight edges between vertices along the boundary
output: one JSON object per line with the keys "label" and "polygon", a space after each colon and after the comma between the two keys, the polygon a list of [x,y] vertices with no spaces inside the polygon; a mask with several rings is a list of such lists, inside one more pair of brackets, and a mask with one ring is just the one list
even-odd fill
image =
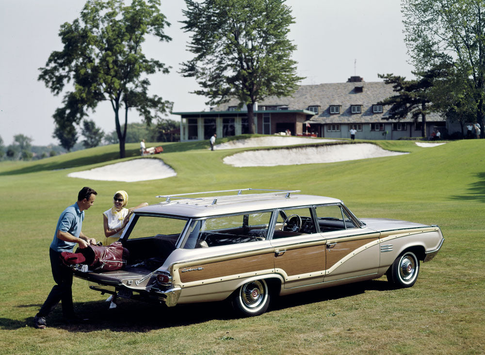
{"label": "pale hazy sky behind the trees and clubhouse", "polygon": [[[58,36],[64,22],[79,17],[84,0],[0,1],[0,137],[5,145],[24,134],[34,145],[58,144],[52,138],[52,114],[62,105],[37,81],[38,68],[53,50],[61,50]],[[377,74],[412,77],[404,45],[400,1],[397,0],[287,0],[295,23],[290,39],[298,46],[293,58],[301,84],[344,82],[354,74],[365,81],[380,81]],[[189,34],[180,30],[182,0],[162,0],[161,10],[172,24],[168,43],[149,39],[144,51],[172,66],[169,75],[150,77],[151,93],[174,102],[174,111],[209,109],[205,97],[189,92],[197,88],[193,78],[181,77],[179,63],[191,58],[186,51]],[[178,119],[169,115],[168,118]],[[105,132],[114,129],[108,102],[90,116]],[[129,122],[140,122],[136,112]]]}

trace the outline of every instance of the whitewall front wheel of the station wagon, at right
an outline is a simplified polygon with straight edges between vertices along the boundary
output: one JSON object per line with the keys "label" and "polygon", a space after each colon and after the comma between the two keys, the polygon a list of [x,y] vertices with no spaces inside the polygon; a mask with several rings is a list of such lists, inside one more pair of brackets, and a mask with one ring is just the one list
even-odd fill
{"label": "whitewall front wheel of the station wagon, at right", "polygon": [[420,272],[420,261],[411,251],[401,254],[387,272],[388,281],[397,287],[411,287],[416,283]]}

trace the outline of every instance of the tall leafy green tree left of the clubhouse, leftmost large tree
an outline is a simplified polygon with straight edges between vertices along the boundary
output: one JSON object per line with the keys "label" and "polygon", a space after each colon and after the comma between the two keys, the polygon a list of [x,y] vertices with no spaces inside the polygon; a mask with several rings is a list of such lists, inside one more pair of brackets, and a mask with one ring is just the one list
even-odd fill
{"label": "tall leafy green tree left of the clubhouse, leftmost large tree", "polygon": [[61,144],[64,139],[72,147],[77,139],[75,125],[100,102],[108,101],[114,112],[120,157],[124,157],[129,109],[135,108],[150,123],[171,108],[171,102],[148,95],[146,77],[168,73],[169,67],[146,58],[142,51],[149,34],[160,41],[171,40],[164,33],[170,24],[159,7],[159,0],[132,0],[128,6],[123,0],[88,0],[80,18],[61,26],[64,48],[50,54],[38,78],[55,95],[72,83],[65,93],[64,107],[54,114],[54,137]]}

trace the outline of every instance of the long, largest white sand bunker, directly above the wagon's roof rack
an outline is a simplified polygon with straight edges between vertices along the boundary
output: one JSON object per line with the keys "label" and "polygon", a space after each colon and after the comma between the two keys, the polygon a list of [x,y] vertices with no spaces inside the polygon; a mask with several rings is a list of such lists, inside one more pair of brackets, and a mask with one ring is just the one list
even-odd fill
{"label": "long, largest white sand bunker, directly above the wagon's roof rack", "polygon": [[387,151],[371,143],[338,144],[241,152],[226,156],[224,163],[234,167],[273,167],[276,165],[332,163],[402,154],[408,153]]}

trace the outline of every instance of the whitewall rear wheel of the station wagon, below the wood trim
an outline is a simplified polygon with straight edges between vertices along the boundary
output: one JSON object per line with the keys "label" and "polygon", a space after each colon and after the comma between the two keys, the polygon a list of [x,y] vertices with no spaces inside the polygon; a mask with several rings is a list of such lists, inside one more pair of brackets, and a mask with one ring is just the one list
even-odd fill
{"label": "whitewall rear wheel of the station wagon, below the wood trim", "polygon": [[269,304],[270,294],[265,280],[247,282],[232,296],[232,307],[246,317],[263,314]]}

